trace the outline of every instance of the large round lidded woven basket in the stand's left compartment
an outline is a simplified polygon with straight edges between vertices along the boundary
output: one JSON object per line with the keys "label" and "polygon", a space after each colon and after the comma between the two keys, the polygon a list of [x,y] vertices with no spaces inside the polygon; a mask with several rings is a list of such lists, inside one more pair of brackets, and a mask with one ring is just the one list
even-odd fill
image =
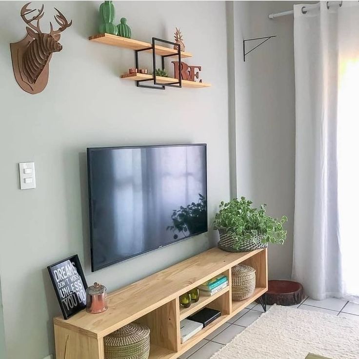
{"label": "large round lidded woven basket in the stand's left compartment", "polygon": [[103,338],[105,359],[148,359],[150,329],[130,323]]}

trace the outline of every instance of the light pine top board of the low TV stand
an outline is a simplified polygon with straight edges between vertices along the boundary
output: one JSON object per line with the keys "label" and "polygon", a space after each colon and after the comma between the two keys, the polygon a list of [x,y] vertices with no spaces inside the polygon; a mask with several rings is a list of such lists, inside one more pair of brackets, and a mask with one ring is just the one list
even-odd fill
{"label": "light pine top board of the low TV stand", "polygon": [[81,311],[67,320],[57,317],[54,323],[95,338],[104,337],[264,251],[230,253],[212,248],[109,294],[104,313]]}

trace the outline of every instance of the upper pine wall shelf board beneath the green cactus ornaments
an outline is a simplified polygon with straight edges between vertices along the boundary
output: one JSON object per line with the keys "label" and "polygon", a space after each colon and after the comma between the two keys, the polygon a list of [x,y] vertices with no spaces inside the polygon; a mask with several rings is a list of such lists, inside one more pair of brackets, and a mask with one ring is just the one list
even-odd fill
{"label": "upper pine wall shelf board beneath the green cactus ornaments", "polygon": [[[106,45],[124,47],[126,49],[131,50],[141,50],[145,49],[146,47],[150,47],[149,50],[145,52],[152,52],[152,43],[134,40],[134,39],[127,39],[122,38],[121,36],[112,35],[112,34],[98,34],[94,36],[90,36],[88,38],[90,41],[104,43]],[[161,56],[166,55],[173,55],[176,56],[178,54],[177,50],[171,49],[169,47],[156,45],[156,54]],[[192,54],[189,52],[181,51],[181,58],[191,58]]]}

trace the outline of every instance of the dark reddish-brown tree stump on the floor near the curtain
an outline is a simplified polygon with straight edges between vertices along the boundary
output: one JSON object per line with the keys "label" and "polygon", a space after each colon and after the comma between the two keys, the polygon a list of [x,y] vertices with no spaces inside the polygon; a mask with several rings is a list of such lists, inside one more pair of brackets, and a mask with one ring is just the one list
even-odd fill
{"label": "dark reddish-brown tree stump on the floor near the curtain", "polygon": [[291,280],[269,280],[266,304],[295,305],[304,299],[303,286]]}

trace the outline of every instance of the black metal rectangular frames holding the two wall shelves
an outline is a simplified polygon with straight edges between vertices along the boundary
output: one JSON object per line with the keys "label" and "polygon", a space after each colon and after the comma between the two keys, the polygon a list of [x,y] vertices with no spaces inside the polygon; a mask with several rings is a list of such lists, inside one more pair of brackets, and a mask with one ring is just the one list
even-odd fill
{"label": "black metal rectangular frames holding the two wall shelves", "polygon": [[[179,62],[179,80],[176,82],[169,82],[169,83],[159,83],[157,82],[157,76],[156,76],[156,41],[158,42],[164,42],[164,43],[168,43],[170,45],[176,45],[177,46],[177,55],[178,56],[178,62]],[[168,40],[163,40],[163,39],[158,39],[158,38],[152,38],[152,47],[145,47],[143,49],[140,50],[135,50],[135,62],[136,62],[136,68],[139,69],[140,65],[139,65],[139,52],[141,51],[146,51],[146,50],[152,50],[152,65],[153,65],[153,79],[148,79],[148,80],[137,80],[136,81],[136,86],[137,87],[145,87],[145,88],[150,88],[150,89],[154,89],[154,90],[165,90],[166,86],[169,87],[178,87],[181,88],[182,87],[182,77],[180,76],[180,69],[181,69],[181,49],[180,49],[180,44],[177,44],[176,42],[172,42],[172,41],[168,41]],[[161,66],[162,66],[162,70],[164,70],[164,59],[170,56],[174,56],[173,54],[169,54],[169,55],[160,55],[161,56]],[[144,82],[144,81],[153,81],[153,86],[150,85],[142,85],[140,84],[140,82]]]}

